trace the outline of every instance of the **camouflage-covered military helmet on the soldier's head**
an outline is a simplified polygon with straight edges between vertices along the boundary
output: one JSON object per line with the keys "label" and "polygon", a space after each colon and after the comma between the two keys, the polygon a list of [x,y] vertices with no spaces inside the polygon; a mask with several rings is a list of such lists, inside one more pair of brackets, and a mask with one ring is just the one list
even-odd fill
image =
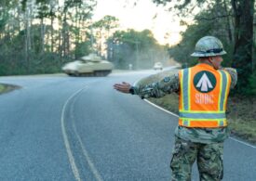
{"label": "camouflage-covered military helmet on the soldier's head", "polygon": [[213,57],[226,54],[222,42],[214,36],[205,36],[195,44],[195,52],[192,57]]}

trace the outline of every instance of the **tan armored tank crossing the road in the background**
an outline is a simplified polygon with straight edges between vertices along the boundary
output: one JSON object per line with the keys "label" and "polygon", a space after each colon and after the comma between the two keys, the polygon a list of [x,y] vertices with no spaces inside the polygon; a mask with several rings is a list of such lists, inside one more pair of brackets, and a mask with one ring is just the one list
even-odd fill
{"label": "tan armored tank crossing the road in the background", "polygon": [[62,71],[71,76],[107,76],[113,69],[113,63],[96,54],[89,54],[62,67]]}

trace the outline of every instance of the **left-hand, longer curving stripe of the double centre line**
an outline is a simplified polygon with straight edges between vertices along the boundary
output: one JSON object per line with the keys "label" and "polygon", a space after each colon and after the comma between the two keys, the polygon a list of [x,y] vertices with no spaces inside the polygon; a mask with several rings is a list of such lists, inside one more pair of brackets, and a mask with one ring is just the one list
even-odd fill
{"label": "left-hand, longer curving stripe of the double centre line", "polygon": [[66,132],[66,129],[65,129],[65,123],[64,123],[64,114],[65,114],[65,110],[66,110],[66,107],[69,103],[69,101],[76,95],[78,94],[80,91],[82,91],[83,89],[80,89],[78,91],[76,91],[71,97],[69,97],[67,99],[67,101],[65,102],[63,108],[62,108],[62,111],[61,111],[61,131],[62,131],[62,136],[63,136],[63,140],[64,140],[64,144],[65,144],[65,147],[66,147],[66,150],[67,150],[67,154],[68,154],[68,158],[69,158],[69,162],[71,164],[71,168],[72,168],[72,171],[73,171],[73,174],[74,174],[74,178],[75,180],[77,181],[81,181],[81,177],[79,175],[79,171],[77,169],[77,166],[74,162],[74,156],[72,154],[72,150],[70,148],[70,143],[69,143],[69,140],[68,140],[68,136],[67,136],[67,132]]}

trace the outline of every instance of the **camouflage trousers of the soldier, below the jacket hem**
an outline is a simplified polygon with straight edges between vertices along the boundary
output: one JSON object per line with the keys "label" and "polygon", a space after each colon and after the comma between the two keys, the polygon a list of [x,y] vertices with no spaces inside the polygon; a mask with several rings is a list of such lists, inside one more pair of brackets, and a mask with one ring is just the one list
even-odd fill
{"label": "camouflage trousers of the soldier, below the jacket hem", "polygon": [[190,181],[191,168],[197,159],[200,180],[221,180],[223,142],[210,144],[196,143],[176,137],[170,168],[172,180]]}

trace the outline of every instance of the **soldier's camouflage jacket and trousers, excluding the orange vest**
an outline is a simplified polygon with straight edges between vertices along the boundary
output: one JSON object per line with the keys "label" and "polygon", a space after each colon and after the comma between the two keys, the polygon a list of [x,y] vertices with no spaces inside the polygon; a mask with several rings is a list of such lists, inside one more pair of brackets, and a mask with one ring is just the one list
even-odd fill
{"label": "soldier's camouflage jacket and trousers, excluding the orange vest", "polygon": [[[234,88],[237,81],[236,70],[232,68],[224,70],[231,75],[231,88]],[[163,97],[172,92],[178,93],[179,86],[179,75],[176,73],[153,84],[136,85],[134,94],[141,98]],[[228,136],[228,127],[187,128],[178,126],[175,130],[175,147],[170,162],[172,180],[191,180],[191,168],[195,159],[200,180],[221,180],[223,141]]]}

